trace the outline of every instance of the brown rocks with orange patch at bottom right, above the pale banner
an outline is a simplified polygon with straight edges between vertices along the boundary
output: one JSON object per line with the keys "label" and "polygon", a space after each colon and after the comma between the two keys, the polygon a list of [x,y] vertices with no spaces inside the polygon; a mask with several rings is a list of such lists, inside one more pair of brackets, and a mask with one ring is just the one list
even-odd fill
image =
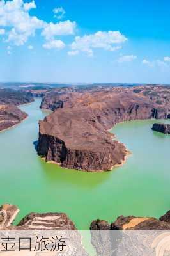
{"label": "brown rocks with orange patch at bottom right, above the pale banner", "polygon": [[120,216],[111,224],[104,220],[95,220],[90,230],[170,230],[169,212],[159,220],[153,217]]}

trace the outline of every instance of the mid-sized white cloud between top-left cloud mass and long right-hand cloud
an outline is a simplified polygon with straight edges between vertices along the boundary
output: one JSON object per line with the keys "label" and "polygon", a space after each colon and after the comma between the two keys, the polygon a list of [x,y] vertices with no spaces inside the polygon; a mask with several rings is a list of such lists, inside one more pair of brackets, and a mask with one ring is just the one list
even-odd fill
{"label": "mid-sized white cloud between top-left cloud mass and long right-hand cloud", "polygon": [[42,31],[42,35],[45,36],[47,40],[54,38],[54,36],[59,35],[73,35],[75,33],[76,23],[70,20],[60,21],[56,24],[50,22],[46,24],[45,29]]}

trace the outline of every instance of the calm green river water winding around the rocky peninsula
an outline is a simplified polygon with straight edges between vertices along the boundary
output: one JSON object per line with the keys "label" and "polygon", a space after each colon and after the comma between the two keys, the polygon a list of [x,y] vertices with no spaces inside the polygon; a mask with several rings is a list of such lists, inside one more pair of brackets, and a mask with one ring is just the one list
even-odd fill
{"label": "calm green river water winding around the rocky peninsula", "polygon": [[112,172],[79,172],[37,156],[38,120],[48,115],[39,106],[40,99],[21,106],[28,118],[0,133],[0,204],[19,207],[16,223],[29,212],[65,212],[77,228],[88,230],[97,218],[159,217],[170,209],[170,136],[151,130],[155,120],[112,129],[132,152],[123,166]]}

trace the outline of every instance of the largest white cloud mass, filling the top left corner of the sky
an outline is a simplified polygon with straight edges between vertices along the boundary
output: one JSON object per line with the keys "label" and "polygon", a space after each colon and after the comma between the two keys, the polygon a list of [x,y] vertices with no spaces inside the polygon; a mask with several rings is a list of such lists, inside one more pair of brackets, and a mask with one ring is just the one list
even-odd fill
{"label": "largest white cloud mass, filling the top left corner of the sky", "polygon": [[34,1],[24,4],[22,0],[0,2],[0,26],[10,28],[6,42],[23,45],[29,36],[35,35],[36,29],[44,27],[45,22],[28,13],[34,4]]}

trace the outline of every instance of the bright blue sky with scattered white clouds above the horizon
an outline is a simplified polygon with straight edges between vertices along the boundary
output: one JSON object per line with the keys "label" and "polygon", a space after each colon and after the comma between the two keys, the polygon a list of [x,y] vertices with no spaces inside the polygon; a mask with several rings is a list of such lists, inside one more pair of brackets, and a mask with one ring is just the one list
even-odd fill
{"label": "bright blue sky with scattered white clouds above the horizon", "polygon": [[170,2],[0,1],[0,81],[170,83]]}

